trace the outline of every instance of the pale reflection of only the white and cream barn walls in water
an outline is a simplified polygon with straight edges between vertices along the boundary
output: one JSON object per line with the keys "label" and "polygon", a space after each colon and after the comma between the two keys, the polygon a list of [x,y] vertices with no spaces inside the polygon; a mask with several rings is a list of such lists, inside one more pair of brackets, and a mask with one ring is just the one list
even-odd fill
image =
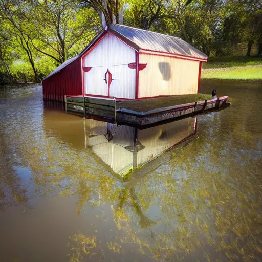
{"label": "pale reflection of only the white and cream barn walls in water", "polygon": [[123,174],[161,155],[196,132],[196,118],[139,130],[96,120],[85,120],[86,143],[115,173]]}

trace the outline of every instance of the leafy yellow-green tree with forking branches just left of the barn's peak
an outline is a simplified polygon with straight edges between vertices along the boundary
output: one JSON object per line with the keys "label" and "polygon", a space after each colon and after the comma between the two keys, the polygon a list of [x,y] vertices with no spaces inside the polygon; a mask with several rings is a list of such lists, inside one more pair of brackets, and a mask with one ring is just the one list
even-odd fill
{"label": "leafy yellow-green tree with forking branches just left of the barn's peak", "polygon": [[79,42],[88,42],[100,29],[96,13],[71,0],[36,1],[31,23],[38,28],[31,38],[34,48],[55,60],[59,65],[74,54]]}

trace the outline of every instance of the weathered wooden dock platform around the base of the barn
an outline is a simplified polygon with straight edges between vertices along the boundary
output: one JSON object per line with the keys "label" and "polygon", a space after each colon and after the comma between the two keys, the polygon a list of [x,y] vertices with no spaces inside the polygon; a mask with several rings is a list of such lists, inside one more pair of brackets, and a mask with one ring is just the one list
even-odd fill
{"label": "weathered wooden dock platform around the base of the barn", "polygon": [[[202,97],[211,97],[211,99],[193,101],[195,97],[198,100]],[[196,94],[127,101],[85,97],[84,103],[83,97],[67,96],[65,101],[67,101],[67,111],[81,114],[85,118],[98,118],[144,129],[152,125],[226,108],[230,105],[227,99],[228,96],[212,98],[209,95]],[[181,101],[187,103],[180,104]],[[156,104],[158,108],[154,108]]]}

